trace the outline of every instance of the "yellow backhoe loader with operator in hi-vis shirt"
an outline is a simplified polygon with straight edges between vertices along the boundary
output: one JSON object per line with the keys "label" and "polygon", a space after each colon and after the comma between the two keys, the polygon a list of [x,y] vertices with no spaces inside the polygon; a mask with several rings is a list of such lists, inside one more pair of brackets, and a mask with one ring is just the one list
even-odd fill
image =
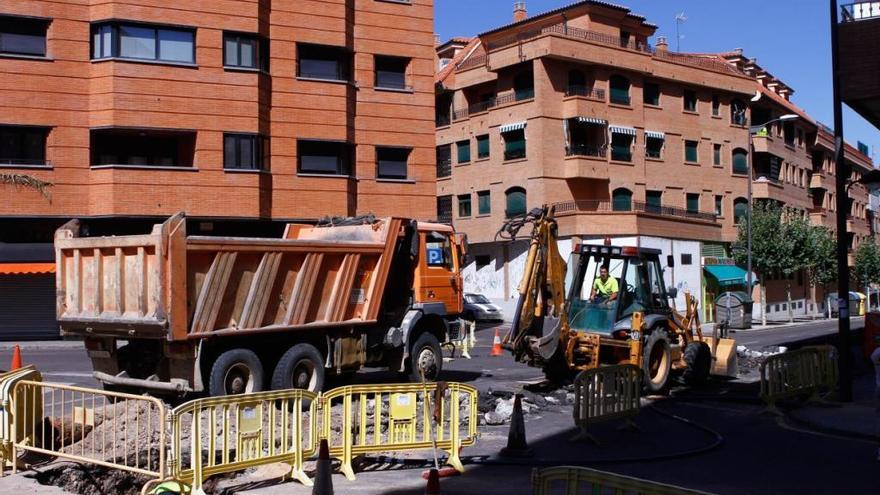
{"label": "yellow backhoe loader with operator in hi-vis shirt", "polygon": [[663,282],[659,250],[574,244],[566,264],[552,207],[508,220],[499,237],[516,239],[527,224],[531,244],[503,341],[517,361],[542,368],[552,381],[631,363],[644,370],[649,393],[662,391],[673,371],[681,371],[689,384],[705,382],[710,374],[736,376],[736,342],[723,326],[716,325],[711,337],[703,335],[690,294],[684,294],[684,314],[670,304],[676,290]]}

